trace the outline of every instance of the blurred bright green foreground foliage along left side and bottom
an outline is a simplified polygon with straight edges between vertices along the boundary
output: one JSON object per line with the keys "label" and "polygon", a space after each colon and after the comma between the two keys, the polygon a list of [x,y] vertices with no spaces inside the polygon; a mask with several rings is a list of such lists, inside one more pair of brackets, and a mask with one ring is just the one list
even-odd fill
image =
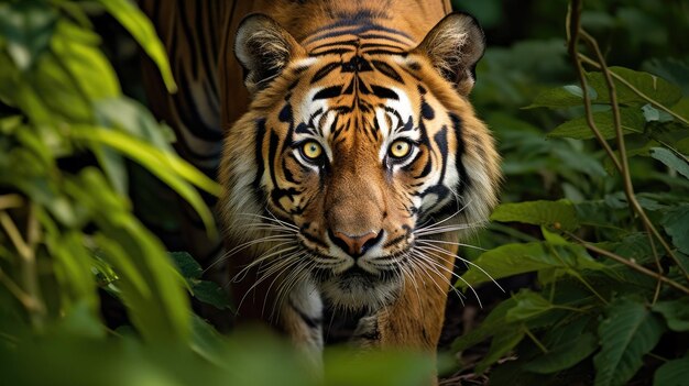
{"label": "blurred bright green foreground foliage along left side and bottom", "polygon": [[[127,0],[97,5],[136,38],[174,90],[150,21]],[[299,386],[429,378],[431,363],[423,355],[352,360],[342,349],[328,353],[320,375],[269,332],[221,337],[194,313],[188,295],[218,309],[231,305],[225,290],[201,278],[189,254],[167,253],[134,217],[130,172],[143,167],[174,189],[208,232],[216,231],[212,216],[197,189],[217,195],[219,187],[174,153],[168,128],[122,95],[89,20],[92,7],[0,2],[3,378],[21,385]],[[111,298],[124,305],[131,326],[113,330],[101,320],[100,302]],[[64,371],[75,366],[84,371]],[[383,376],[385,370],[397,375]]]}

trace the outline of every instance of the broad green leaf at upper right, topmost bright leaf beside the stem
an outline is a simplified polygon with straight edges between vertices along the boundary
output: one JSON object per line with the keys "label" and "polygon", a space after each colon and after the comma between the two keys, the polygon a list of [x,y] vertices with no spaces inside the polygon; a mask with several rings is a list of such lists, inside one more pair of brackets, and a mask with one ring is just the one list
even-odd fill
{"label": "broad green leaf at upper right, topmost bright leaf beside the stem", "polygon": [[[681,90],[679,87],[668,82],[667,80],[643,71],[635,71],[624,67],[610,67],[610,70],[628,84],[631,84],[638,91],[643,92],[646,97],[655,100],[658,103],[665,106],[672,106],[681,98]],[[605,77],[602,73],[589,73],[588,78],[590,86],[598,91],[598,100],[595,103],[610,103],[610,95],[608,92],[608,85]],[[615,90],[617,93],[617,102],[620,104],[638,106],[642,107],[648,103],[647,100],[639,97],[626,85],[623,85],[620,80],[613,78]]]}

